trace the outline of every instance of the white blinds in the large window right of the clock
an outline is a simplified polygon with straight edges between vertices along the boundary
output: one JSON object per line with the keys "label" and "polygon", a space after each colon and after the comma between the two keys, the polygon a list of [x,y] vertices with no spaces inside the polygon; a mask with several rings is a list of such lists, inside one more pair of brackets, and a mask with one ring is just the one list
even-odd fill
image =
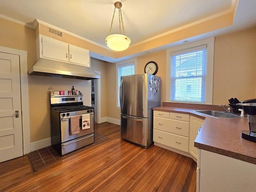
{"label": "white blinds in the large window right of the clock", "polygon": [[205,103],[206,45],[171,52],[170,100]]}

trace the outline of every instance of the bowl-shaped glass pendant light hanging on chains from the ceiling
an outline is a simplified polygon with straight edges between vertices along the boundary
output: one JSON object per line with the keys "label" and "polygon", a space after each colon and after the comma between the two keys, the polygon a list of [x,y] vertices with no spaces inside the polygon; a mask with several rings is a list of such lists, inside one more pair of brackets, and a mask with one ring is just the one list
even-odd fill
{"label": "bowl-shaped glass pendant light hanging on chains from the ceiling", "polygon": [[[114,6],[115,6],[114,14],[113,14],[113,17],[112,17],[109,34],[106,37],[106,43],[107,43],[108,47],[110,49],[114,50],[114,51],[123,51],[123,50],[126,50],[129,47],[129,45],[131,43],[131,40],[130,40],[130,38],[125,36],[125,32],[124,32],[124,22],[123,22],[123,17],[122,17],[122,10],[121,10],[122,3],[117,1],[117,2],[114,3]],[[120,34],[110,35],[113,20],[114,20],[114,16],[115,16],[115,12],[116,12],[116,8],[118,9],[118,13],[119,13],[119,33]],[[121,34],[121,24],[122,24],[123,34]]]}

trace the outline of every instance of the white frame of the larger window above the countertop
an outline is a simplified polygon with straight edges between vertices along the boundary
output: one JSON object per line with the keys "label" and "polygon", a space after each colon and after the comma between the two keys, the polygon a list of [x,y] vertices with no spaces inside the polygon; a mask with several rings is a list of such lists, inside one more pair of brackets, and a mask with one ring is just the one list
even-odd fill
{"label": "white frame of the larger window above the countertop", "polygon": [[204,103],[198,102],[178,102],[175,101],[174,103],[189,103],[189,104],[209,104],[212,105],[212,97],[213,97],[213,67],[214,67],[214,37],[207,38],[204,40],[199,40],[196,42],[176,46],[166,50],[166,102],[174,102],[170,100],[170,92],[171,92],[171,53],[178,52],[186,49],[191,49],[198,46],[206,45],[206,96]]}

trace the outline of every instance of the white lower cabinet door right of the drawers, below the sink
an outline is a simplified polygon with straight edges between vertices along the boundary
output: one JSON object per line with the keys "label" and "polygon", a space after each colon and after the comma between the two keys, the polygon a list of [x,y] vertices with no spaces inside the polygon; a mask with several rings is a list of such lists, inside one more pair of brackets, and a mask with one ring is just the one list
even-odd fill
{"label": "white lower cabinet door right of the drawers, below the sink", "polygon": [[189,131],[189,139],[190,139],[190,143],[189,143],[189,153],[194,156],[194,158],[197,159],[197,148],[194,147],[194,141],[196,139],[196,136],[198,134],[198,129],[202,126],[204,120],[194,117],[194,116],[190,116],[190,131]]}

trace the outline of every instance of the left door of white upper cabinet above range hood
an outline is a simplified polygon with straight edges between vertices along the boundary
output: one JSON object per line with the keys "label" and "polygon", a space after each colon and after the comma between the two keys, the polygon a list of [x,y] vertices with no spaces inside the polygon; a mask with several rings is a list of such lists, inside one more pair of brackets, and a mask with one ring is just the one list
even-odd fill
{"label": "left door of white upper cabinet above range hood", "polygon": [[68,44],[55,40],[53,38],[42,36],[42,52],[43,58],[61,60],[68,62]]}

